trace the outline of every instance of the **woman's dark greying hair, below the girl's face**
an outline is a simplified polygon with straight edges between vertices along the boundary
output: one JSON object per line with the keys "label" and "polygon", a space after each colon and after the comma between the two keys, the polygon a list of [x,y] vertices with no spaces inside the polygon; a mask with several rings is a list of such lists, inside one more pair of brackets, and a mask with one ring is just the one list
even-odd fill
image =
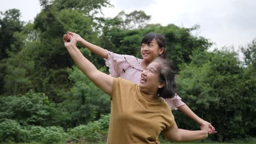
{"label": "woman's dark greying hair, below the girl's face", "polygon": [[159,81],[165,81],[166,85],[158,89],[159,97],[173,98],[176,95],[175,69],[172,62],[158,57],[153,62],[158,63]]}

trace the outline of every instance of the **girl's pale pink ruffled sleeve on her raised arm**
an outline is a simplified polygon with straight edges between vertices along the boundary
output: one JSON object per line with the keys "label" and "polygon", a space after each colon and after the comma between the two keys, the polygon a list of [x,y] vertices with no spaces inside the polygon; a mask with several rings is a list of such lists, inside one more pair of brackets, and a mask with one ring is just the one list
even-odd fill
{"label": "girl's pale pink ruffled sleeve on her raised arm", "polygon": [[113,77],[119,77],[123,70],[130,67],[130,64],[126,61],[124,55],[119,55],[114,52],[106,50],[108,58],[104,58],[106,66],[109,68],[109,73]]}

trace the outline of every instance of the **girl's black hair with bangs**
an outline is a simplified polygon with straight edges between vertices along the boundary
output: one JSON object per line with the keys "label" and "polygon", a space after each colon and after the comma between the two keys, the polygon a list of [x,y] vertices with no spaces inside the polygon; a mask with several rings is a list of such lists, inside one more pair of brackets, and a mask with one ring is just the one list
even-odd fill
{"label": "girl's black hair with bangs", "polygon": [[166,59],[166,40],[164,36],[157,33],[148,33],[144,35],[143,39],[141,40],[141,45],[150,44],[153,39],[158,41],[158,46],[160,48],[164,47],[164,52],[162,52],[162,54],[159,57]]}

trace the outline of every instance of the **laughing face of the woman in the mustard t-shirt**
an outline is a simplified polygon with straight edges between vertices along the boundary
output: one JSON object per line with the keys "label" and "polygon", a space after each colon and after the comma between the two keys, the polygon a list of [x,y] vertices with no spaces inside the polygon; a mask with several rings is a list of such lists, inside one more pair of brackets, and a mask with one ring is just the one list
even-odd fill
{"label": "laughing face of the woman in the mustard t-shirt", "polygon": [[141,73],[141,81],[139,82],[139,87],[144,89],[146,93],[151,91],[158,91],[160,82],[157,68],[158,63],[152,62]]}

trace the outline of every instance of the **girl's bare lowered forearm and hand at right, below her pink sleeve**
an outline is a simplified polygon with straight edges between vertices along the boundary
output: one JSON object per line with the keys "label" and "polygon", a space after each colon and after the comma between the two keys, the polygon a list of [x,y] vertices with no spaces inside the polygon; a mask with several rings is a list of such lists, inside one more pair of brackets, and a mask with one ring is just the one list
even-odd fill
{"label": "girl's bare lowered forearm and hand at right, below her pink sleeve", "polygon": [[[185,113],[185,115],[187,115],[188,117],[192,118],[194,121],[199,123],[200,125],[206,125],[206,124],[208,125],[207,121],[197,116],[187,105],[182,105],[177,108],[181,110],[183,113]],[[215,134],[215,133],[217,133],[217,131],[211,124],[209,124],[208,134]]]}

